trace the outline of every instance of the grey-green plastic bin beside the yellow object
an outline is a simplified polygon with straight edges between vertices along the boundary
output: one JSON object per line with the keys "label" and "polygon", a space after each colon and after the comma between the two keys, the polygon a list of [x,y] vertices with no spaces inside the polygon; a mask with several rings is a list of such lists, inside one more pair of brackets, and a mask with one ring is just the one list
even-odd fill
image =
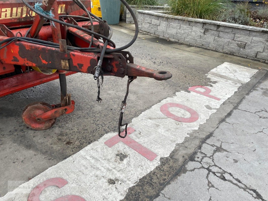
{"label": "grey-green plastic bin beside the yellow object", "polygon": [[108,24],[118,24],[120,18],[120,0],[100,0],[102,20]]}

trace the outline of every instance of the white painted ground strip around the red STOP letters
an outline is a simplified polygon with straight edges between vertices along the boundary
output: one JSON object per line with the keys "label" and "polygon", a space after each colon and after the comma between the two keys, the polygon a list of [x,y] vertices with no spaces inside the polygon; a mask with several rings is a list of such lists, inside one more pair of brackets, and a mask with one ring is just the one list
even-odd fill
{"label": "white painted ground strip around the red STOP letters", "polygon": [[[215,82],[211,83],[213,87],[208,86],[211,89],[210,95],[220,98],[220,101],[196,92],[180,91],[173,98],[161,101],[134,118],[129,126],[134,128],[135,132],[129,137],[157,154],[154,160],[148,160],[122,142],[109,148],[104,143],[117,133],[107,133],[98,141],[22,184],[0,200],[26,201],[36,185],[53,177],[64,178],[68,184],[62,188],[45,188],[40,200],[54,200],[66,195],[78,195],[87,201],[124,198],[129,187],[158,166],[161,157],[168,157],[176,143],[182,143],[190,132],[198,129],[200,124],[204,124],[209,116],[237,91],[241,83],[247,83],[257,71],[225,62],[207,75],[212,82]],[[165,103],[179,103],[190,107],[199,114],[199,118],[192,123],[168,118],[160,111],[160,107]],[[213,109],[207,109],[205,106]],[[179,117],[190,117],[187,111],[176,107],[171,107],[169,111]],[[119,161],[117,153],[123,153],[128,157],[124,161]],[[115,180],[116,184],[109,184],[108,179]]]}

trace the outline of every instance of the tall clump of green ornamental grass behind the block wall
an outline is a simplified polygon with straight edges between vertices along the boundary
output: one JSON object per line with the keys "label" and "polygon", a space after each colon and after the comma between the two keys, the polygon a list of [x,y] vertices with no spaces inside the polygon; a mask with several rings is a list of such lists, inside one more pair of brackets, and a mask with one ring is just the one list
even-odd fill
{"label": "tall clump of green ornamental grass behind the block wall", "polygon": [[168,0],[173,15],[214,20],[229,5],[228,0]]}

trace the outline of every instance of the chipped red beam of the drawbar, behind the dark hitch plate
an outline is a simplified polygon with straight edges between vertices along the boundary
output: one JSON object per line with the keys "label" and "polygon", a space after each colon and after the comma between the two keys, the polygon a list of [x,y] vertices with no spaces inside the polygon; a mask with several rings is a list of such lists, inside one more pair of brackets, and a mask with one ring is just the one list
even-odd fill
{"label": "chipped red beam of the drawbar, behind the dark hitch plate", "polygon": [[[0,41],[8,39],[0,36]],[[9,54],[12,53],[12,54]],[[69,59],[70,71],[90,73],[97,65],[98,54],[80,51],[62,53],[58,48],[17,41],[0,50],[0,61],[7,64],[36,66],[42,68],[65,70],[61,59]]]}

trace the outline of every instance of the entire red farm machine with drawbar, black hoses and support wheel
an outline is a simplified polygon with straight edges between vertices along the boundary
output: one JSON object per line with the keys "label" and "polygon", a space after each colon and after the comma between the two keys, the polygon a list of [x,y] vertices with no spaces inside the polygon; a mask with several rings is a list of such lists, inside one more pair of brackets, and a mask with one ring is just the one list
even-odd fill
{"label": "entire red farm machine with drawbar, black hoses and support wheel", "polygon": [[[124,51],[135,42],[138,25],[129,5],[125,0],[121,2],[131,12],[136,30],[130,43],[116,47],[111,40],[111,27],[90,12],[90,0],[0,0],[0,97],[58,78],[60,82],[61,102],[26,106],[26,125],[44,130],[57,117],[74,110],[75,102],[66,87],[66,76],[73,73],[91,73],[98,88],[103,75],[128,76],[127,86],[137,76],[156,80],[172,77],[168,71],[134,64],[132,55]],[[119,133],[125,105],[126,97],[121,106]]]}

